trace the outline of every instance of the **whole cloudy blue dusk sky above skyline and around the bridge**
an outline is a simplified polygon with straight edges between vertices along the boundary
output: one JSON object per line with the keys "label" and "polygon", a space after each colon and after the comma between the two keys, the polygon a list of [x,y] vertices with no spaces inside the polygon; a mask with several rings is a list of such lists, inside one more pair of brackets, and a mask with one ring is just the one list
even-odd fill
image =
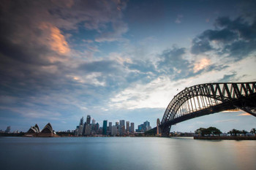
{"label": "whole cloudy blue dusk sky above skyline and around the bridge", "polygon": [[[255,1],[0,1],[0,129],[162,120],[181,90],[256,81]],[[250,131],[219,112],[171,131]]]}

